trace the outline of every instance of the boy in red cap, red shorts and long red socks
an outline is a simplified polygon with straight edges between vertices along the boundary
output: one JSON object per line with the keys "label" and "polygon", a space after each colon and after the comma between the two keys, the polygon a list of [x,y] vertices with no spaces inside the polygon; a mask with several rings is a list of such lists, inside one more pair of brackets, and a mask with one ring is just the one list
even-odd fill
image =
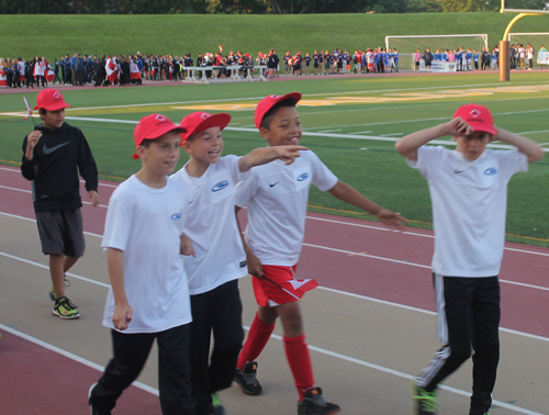
{"label": "boy in red cap, red shorts and long red socks", "polygon": [[[257,105],[254,122],[269,143],[269,148],[300,143],[302,127],[295,108],[300,99],[299,92],[269,96]],[[284,349],[299,393],[298,414],[328,415],[338,413],[340,408],[327,402],[321,388],[314,385],[300,303],[296,301],[307,290],[306,285],[314,288],[315,282],[294,279],[311,184],[376,215],[392,228],[403,228],[401,221],[405,220],[338,180],[313,152],[301,152],[301,157],[291,166],[274,161],[256,167],[236,188],[237,210],[248,205],[244,248],[248,271],[256,277],[253,284],[259,310],[238,358],[235,381],[246,394],[262,392],[256,379],[255,360],[280,317]]]}

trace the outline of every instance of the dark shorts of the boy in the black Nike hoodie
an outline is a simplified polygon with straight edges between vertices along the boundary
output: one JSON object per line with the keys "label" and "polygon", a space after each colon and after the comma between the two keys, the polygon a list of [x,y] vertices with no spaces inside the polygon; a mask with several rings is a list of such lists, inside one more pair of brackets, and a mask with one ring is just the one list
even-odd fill
{"label": "dark shorts of the boy in the black Nike hoodie", "polygon": [[82,213],[80,209],[36,212],[36,224],[44,255],[80,258],[83,256]]}

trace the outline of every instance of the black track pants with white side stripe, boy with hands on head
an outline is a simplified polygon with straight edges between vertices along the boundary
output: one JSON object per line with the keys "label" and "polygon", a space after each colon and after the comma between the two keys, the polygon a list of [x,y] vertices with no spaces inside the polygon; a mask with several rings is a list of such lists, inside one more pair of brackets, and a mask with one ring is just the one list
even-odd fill
{"label": "black track pants with white side stripe, boy with hands on head", "polygon": [[497,277],[462,278],[434,274],[438,336],[445,346],[417,378],[433,391],[473,354],[470,415],[488,413],[500,361],[500,281]]}

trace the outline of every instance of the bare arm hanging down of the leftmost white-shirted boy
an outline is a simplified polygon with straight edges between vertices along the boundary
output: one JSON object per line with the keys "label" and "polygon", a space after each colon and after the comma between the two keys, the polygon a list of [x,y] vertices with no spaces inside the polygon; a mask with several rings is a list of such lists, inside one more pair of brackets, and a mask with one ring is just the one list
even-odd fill
{"label": "bare arm hanging down of the leftmost white-shirted boy", "polygon": [[109,266],[109,279],[111,280],[112,293],[114,295],[114,314],[112,322],[119,330],[125,330],[132,322],[133,309],[127,302],[124,287],[124,251],[109,248],[107,251],[107,263]]}

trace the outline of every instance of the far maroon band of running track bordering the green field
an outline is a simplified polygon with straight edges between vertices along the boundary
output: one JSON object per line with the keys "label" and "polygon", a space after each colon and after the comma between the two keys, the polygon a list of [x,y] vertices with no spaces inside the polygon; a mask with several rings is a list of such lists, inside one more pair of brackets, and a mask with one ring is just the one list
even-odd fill
{"label": "far maroon band of running track bordering the green field", "polygon": [[[85,204],[86,232],[102,235],[115,187],[101,181],[101,205]],[[30,189],[19,169],[0,167],[0,212],[34,218]],[[502,327],[549,337],[549,249],[509,243],[505,247],[500,274]],[[397,234],[374,222],[309,213],[298,274],[314,278],[324,288],[434,311],[432,255],[430,231]]]}

